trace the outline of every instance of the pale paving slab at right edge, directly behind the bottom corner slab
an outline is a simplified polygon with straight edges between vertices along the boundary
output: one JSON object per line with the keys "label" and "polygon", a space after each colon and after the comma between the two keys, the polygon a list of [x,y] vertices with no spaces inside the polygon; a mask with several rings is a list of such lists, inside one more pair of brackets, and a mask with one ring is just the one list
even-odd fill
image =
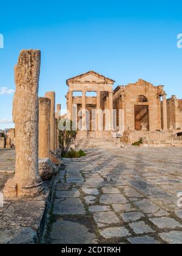
{"label": "pale paving slab at right edge, directly behind the bottom corner slab", "polygon": [[161,218],[151,218],[150,221],[157,226],[159,229],[176,229],[182,228],[182,225],[175,221],[175,219],[161,217]]}

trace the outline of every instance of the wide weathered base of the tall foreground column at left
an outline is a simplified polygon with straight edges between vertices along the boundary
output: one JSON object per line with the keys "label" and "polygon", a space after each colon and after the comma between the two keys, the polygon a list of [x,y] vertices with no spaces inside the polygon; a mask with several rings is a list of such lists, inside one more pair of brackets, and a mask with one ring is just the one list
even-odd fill
{"label": "wide weathered base of the tall foreground column at left", "polygon": [[9,179],[4,187],[4,197],[37,197],[44,194],[44,185],[40,177],[35,180],[22,181]]}

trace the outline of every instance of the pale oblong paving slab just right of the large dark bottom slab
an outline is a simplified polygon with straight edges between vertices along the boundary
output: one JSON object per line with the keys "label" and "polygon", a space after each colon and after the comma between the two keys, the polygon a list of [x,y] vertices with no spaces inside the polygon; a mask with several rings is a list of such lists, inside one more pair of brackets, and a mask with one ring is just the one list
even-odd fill
{"label": "pale oblong paving slab just right of the large dark bottom slab", "polygon": [[100,230],[99,233],[106,239],[123,238],[131,235],[125,227],[110,227],[108,229]]}

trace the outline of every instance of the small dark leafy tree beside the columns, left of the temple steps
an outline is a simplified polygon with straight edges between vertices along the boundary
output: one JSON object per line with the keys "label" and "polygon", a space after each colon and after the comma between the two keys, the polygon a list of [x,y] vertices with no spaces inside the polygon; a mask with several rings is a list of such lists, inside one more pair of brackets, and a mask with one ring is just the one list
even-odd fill
{"label": "small dark leafy tree beside the columns, left of the temple steps", "polygon": [[[70,145],[76,138],[76,130],[73,130],[73,123],[69,119],[62,119],[59,121],[61,127],[59,129],[59,148],[61,149],[61,155],[64,155],[69,151]],[[69,129],[67,129],[69,128]]]}

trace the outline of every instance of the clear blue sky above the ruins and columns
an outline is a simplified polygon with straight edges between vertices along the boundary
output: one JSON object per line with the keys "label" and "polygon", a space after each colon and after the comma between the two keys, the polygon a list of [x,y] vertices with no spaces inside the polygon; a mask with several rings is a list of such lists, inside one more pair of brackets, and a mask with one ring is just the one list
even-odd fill
{"label": "clear blue sky above the ruins and columns", "polygon": [[13,126],[8,90],[21,49],[41,49],[39,96],[55,91],[64,108],[66,79],[91,69],[115,86],[142,78],[182,98],[181,9],[181,1],[2,1],[0,129]]}

